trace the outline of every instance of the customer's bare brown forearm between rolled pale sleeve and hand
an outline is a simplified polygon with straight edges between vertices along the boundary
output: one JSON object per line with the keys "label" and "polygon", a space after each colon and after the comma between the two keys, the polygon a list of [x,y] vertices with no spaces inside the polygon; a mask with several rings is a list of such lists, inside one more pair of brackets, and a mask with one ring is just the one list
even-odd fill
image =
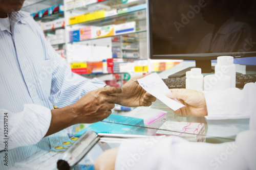
{"label": "customer's bare brown forearm between rolled pale sleeve and hand", "polygon": [[77,124],[77,114],[74,105],[54,109],[51,112],[51,124],[45,137]]}

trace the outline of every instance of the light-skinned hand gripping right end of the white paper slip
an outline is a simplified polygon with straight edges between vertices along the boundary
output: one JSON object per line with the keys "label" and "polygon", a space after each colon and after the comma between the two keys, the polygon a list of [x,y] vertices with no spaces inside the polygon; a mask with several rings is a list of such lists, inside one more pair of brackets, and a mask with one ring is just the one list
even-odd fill
{"label": "light-skinned hand gripping right end of the white paper slip", "polygon": [[177,99],[186,107],[174,111],[177,115],[182,116],[206,116],[207,107],[204,93],[189,89],[170,89],[172,93],[166,93],[171,99]]}

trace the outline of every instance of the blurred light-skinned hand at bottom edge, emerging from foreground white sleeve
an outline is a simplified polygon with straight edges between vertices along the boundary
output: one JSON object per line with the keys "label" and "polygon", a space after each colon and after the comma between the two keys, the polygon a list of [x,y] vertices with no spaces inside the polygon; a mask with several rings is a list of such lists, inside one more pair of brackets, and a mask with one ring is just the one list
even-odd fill
{"label": "blurred light-skinned hand at bottom edge, emerging from foreground white sleeve", "polygon": [[118,148],[103,152],[95,162],[95,170],[114,170]]}

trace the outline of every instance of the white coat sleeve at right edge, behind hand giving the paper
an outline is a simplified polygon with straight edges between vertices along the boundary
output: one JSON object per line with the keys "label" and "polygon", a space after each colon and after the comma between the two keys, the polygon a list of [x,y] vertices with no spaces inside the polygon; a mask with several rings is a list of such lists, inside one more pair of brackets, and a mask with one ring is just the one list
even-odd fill
{"label": "white coat sleeve at right edge, behind hand giving the paper", "polygon": [[249,118],[255,110],[256,83],[247,83],[242,90],[207,91],[204,95],[207,119]]}

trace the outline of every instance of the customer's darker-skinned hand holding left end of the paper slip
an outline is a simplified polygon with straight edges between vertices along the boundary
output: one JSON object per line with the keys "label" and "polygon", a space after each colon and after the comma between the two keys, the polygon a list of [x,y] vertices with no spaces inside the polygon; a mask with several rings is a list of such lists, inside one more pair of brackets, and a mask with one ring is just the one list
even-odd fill
{"label": "customer's darker-skinned hand holding left end of the paper slip", "polygon": [[138,107],[150,106],[152,102],[155,102],[156,98],[146,92],[137,81],[147,75],[134,77],[125,83],[122,86],[122,93],[117,95],[119,97],[117,104],[122,106]]}

